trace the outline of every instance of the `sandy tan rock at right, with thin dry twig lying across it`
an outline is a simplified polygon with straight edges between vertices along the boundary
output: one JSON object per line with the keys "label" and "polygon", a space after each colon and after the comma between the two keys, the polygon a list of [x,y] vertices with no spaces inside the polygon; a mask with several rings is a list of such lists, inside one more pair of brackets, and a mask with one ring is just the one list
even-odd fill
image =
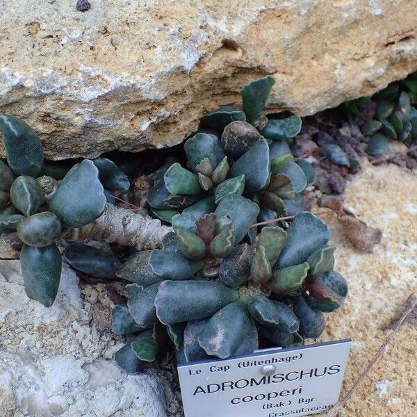
{"label": "sandy tan rock at right, with thin dry twig lying across it", "polygon": [[[407,297],[417,292],[417,172],[395,165],[363,170],[347,186],[345,206],[370,227],[382,229],[373,253],[354,250],[334,215],[322,215],[337,245],[335,270],[349,282],[343,308],[328,316],[323,340],[352,338],[341,396],[345,395],[389,335]],[[347,402],[344,417],[409,417],[417,402],[417,311],[400,328],[384,356]]]}

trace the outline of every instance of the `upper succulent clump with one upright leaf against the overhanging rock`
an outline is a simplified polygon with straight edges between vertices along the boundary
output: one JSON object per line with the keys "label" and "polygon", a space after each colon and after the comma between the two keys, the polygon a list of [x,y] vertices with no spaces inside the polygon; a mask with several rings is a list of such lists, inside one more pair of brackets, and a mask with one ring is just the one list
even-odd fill
{"label": "upper succulent clump with one upright leaf against the overhanging rock", "polygon": [[225,107],[202,117],[199,131],[184,143],[188,166],[165,165],[154,176],[147,195],[154,215],[171,222],[178,213],[211,213],[227,195],[252,199],[262,220],[304,208],[302,191],[313,183],[314,170],[295,160],[288,146],[301,119],[268,120],[262,113],[274,82],[265,76],[247,83],[243,111]]}

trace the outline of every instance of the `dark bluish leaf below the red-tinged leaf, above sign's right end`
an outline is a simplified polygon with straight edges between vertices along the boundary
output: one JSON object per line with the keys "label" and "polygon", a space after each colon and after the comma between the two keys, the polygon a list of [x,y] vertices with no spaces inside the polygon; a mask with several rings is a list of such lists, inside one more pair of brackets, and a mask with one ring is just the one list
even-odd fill
{"label": "dark bluish leaf below the red-tinged leaf, above sign's right end", "polygon": [[321,311],[311,308],[303,296],[297,297],[294,302],[295,316],[300,320],[299,333],[306,338],[318,338],[325,329],[325,316]]}

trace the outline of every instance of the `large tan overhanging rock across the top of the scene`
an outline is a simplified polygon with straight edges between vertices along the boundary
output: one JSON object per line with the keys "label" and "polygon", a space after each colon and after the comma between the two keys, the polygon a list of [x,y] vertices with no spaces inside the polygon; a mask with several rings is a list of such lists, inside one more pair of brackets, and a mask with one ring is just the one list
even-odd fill
{"label": "large tan overhanging rock across the top of the scene", "polygon": [[174,145],[264,74],[270,111],[306,115],[417,70],[412,1],[90,3],[2,2],[0,111],[34,126],[48,158]]}

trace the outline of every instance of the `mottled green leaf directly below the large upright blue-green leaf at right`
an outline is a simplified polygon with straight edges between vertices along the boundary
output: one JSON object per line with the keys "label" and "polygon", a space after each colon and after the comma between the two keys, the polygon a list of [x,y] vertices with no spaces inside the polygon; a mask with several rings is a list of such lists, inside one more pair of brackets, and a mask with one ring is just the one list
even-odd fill
{"label": "mottled green leaf directly below the large upright blue-green leaf at right", "polygon": [[309,264],[287,266],[272,273],[268,288],[278,295],[297,295],[309,272]]}

